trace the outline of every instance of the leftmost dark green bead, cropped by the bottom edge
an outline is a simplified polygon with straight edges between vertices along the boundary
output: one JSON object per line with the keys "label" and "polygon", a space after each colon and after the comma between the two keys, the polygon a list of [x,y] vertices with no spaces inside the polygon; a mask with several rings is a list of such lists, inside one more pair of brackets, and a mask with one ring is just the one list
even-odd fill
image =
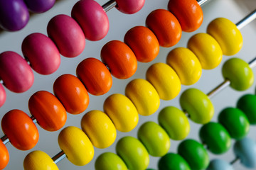
{"label": "leftmost dark green bead, cropped by the bottom edge", "polygon": [[190,170],[188,163],[179,154],[168,153],[159,159],[159,170]]}

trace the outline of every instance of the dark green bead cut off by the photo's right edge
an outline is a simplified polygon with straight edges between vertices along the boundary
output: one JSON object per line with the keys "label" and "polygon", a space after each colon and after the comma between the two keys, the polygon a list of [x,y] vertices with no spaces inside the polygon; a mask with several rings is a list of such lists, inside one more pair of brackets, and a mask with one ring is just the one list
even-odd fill
{"label": "dark green bead cut off by the photo's right edge", "polygon": [[245,113],[251,125],[256,125],[256,96],[245,94],[237,103],[237,107]]}

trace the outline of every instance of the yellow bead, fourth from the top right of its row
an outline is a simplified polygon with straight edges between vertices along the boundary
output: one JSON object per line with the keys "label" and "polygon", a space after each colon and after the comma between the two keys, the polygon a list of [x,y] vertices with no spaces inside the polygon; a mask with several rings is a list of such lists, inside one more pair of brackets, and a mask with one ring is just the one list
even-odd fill
{"label": "yellow bead, fourth from the top right of its row", "polygon": [[163,100],[171,100],[181,91],[181,81],[178,75],[164,63],[151,65],[146,71],[146,80],[149,81]]}

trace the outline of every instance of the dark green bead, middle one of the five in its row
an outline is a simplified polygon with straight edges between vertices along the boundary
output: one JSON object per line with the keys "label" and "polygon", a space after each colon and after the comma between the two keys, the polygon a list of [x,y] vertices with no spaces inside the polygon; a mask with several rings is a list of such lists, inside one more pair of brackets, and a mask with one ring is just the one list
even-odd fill
{"label": "dark green bead, middle one of the five in its row", "polygon": [[228,131],[220,123],[207,123],[200,129],[201,141],[207,145],[213,154],[223,154],[228,151],[231,145],[231,138]]}

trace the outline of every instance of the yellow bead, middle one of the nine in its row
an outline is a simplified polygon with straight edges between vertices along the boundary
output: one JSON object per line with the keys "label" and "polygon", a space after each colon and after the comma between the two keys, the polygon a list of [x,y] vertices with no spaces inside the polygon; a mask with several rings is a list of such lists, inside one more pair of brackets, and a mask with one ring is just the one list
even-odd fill
{"label": "yellow bead, middle one of the nine in its row", "polygon": [[151,115],[160,106],[159,94],[149,81],[134,79],[127,84],[125,95],[134,103],[140,115]]}

